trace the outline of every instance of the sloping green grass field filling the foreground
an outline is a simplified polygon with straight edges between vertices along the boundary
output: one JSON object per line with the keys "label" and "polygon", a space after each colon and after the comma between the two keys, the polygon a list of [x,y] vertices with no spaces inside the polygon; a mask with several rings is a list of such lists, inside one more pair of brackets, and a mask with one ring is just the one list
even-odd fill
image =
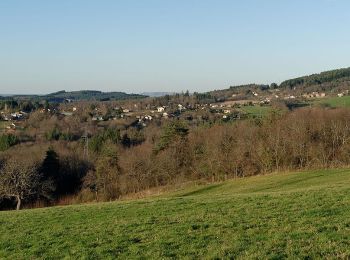
{"label": "sloping green grass field filling the foreground", "polygon": [[0,212],[0,258],[350,257],[350,170],[273,174],[158,197]]}

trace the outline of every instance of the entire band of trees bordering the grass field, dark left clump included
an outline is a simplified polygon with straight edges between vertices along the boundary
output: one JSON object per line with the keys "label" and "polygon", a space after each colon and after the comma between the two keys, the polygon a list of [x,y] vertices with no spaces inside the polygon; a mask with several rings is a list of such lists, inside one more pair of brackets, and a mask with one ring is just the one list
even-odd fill
{"label": "entire band of trees bordering the grass field, dark left clump included", "polygon": [[18,197],[27,205],[54,205],[67,196],[67,203],[107,201],[185,181],[345,167],[349,122],[348,109],[308,108],[196,127],[174,119],[133,138],[104,129],[90,139],[89,157],[82,142],[33,146],[38,152],[15,146],[0,159],[0,197],[3,207]]}

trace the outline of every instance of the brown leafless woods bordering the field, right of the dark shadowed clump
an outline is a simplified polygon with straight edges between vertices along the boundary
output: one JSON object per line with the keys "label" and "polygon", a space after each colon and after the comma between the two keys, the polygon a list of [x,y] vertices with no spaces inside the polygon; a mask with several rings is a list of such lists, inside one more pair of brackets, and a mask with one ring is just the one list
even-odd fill
{"label": "brown leafless woods bordering the field, right of the dark shadowed clump", "polygon": [[[155,140],[117,149],[114,163],[111,156],[99,156],[95,165],[107,159],[103,159],[103,170],[96,167],[91,178],[100,180],[94,185],[89,182],[89,187],[96,189],[91,192],[99,190],[97,198],[114,199],[187,180],[221,181],[274,171],[346,166],[350,163],[349,119],[347,110],[300,109],[271,114],[268,119],[197,128],[172,121]],[[116,173],[114,179],[106,169],[109,164]],[[97,184],[101,178],[108,180],[107,193],[108,185]]]}

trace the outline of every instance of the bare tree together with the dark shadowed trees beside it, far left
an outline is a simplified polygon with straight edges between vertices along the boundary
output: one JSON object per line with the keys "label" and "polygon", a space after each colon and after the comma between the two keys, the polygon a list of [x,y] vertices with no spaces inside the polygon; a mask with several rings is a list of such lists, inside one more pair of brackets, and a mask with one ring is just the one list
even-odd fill
{"label": "bare tree together with the dark shadowed trees beside it, far left", "polygon": [[87,162],[70,154],[59,158],[49,148],[43,158],[23,156],[23,151],[0,158],[0,208],[23,203],[50,205],[61,196],[80,189],[89,169]]}

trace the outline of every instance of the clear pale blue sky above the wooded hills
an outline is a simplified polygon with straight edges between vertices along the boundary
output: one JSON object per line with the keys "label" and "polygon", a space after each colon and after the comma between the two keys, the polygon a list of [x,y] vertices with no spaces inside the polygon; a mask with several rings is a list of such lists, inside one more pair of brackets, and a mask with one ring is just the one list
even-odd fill
{"label": "clear pale blue sky above the wooded hills", "polygon": [[350,67],[348,0],[1,0],[0,93],[206,91]]}

